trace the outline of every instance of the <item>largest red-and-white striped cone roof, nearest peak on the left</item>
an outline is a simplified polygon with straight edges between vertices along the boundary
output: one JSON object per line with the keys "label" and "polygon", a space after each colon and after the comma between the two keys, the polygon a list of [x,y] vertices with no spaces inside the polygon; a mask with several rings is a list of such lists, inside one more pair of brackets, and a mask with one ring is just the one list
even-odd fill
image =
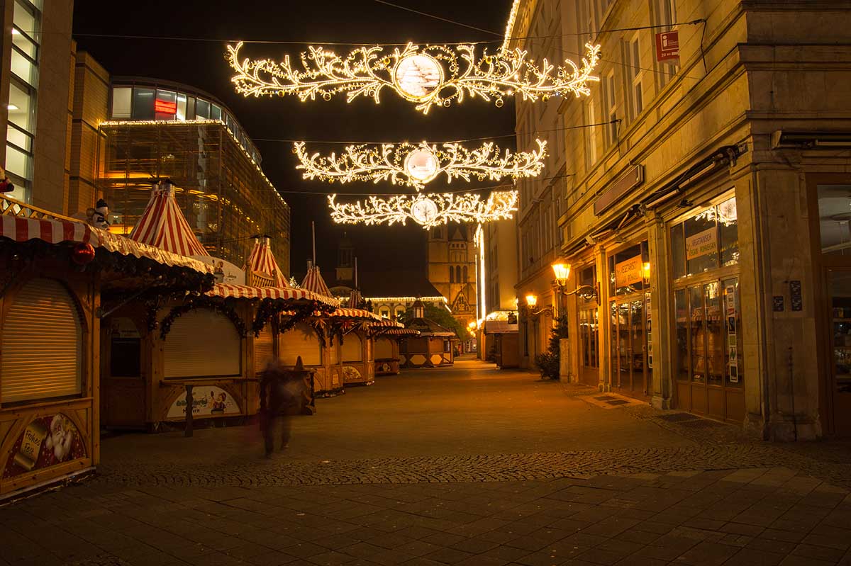
{"label": "largest red-and-white striped cone roof, nearest peak on the left", "polygon": [[151,200],[129,237],[181,256],[210,255],[186,222],[174,200],[174,187],[168,181],[154,185]]}

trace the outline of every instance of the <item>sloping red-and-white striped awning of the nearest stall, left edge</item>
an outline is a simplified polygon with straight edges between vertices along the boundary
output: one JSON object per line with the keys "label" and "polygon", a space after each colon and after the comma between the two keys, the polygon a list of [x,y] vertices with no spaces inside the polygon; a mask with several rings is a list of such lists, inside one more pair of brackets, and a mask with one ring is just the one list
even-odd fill
{"label": "sloping red-and-white striped awning of the nearest stall, left edge", "polygon": [[[4,201],[12,205],[18,204],[13,199],[3,197]],[[107,252],[120,253],[123,256],[134,256],[135,258],[147,258],[157,263],[170,265],[172,267],[184,267],[194,269],[200,273],[213,273],[213,267],[197,259],[186,258],[162,250],[156,246],[132,241],[122,235],[94,228],[89,224],[77,222],[71,218],[23,218],[3,214],[0,216],[0,237],[9,240],[25,242],[30,240],[42,240],[49,244],[60,244],[62,242],[75,242],[91,244],[93,247],[102,247]]]}

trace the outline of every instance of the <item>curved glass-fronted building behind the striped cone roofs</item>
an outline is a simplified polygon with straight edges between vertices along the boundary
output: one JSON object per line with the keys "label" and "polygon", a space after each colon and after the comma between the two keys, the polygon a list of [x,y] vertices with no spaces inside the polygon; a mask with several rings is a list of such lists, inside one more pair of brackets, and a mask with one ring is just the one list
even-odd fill
{"label": "curved glass-fronted building behind the striped cone roofs", "polygon": [[271,237],[289,273],[289,207],[260,169],[260,152],[231,112],[206,93],[173,82],[113,79],[98,185],[111,229],[129,233],[152,178],[175,197],[211,255],[242,266],[253,235]]}

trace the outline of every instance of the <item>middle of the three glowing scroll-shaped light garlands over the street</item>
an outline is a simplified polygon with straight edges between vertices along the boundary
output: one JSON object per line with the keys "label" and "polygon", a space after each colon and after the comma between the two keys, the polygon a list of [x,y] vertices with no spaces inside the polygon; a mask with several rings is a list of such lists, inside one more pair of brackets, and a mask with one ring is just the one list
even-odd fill
{"label": "middle of the three glowing scroll-shaped light garlands over the street", "polygon": [[392,184],[403,184],[421,190],[440,174],[447,182],[453,178],[471,181],[490,179],[499,181],[503,177],[514,179],[535,177],[544,168],[546,142],[536,140],[538,149],[511,153],[500,151],[493,142],[469,150],[457,143],[443,144],[380,144],[350,145],[339,156],[308,154],[305,142],[294,145],[303,177],[319,178],[329,183],[351,183],[352,181],[389,180]]}

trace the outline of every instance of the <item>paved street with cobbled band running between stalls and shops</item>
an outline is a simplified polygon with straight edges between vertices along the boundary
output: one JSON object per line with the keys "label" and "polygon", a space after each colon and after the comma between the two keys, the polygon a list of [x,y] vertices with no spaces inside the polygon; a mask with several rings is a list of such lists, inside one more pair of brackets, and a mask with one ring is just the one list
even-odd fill
{"label": "paved street with cobbled band running between stalls and shops", "polygon": [[847,442],[621,400],[464,360],[317,400],[271,461],[254,427],[113,436],[0,508],[0,563],[851,564]]}

